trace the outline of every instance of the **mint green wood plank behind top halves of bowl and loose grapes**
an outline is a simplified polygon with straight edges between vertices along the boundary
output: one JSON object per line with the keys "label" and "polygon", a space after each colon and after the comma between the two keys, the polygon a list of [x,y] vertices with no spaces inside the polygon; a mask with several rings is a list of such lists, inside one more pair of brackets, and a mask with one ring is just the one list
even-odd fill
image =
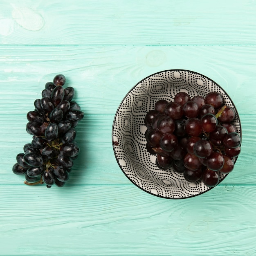
{"label": "mint green wood plank behind top halves of bowl and loose grapes", "polygon": [[[210,77],[238,112],[255,114],[255,46],[0,47],[0,114],[26,115],[56,74],[67,77],[85,114],[114,115],[141,79],[169,69]],[[248,93],[249,91],[249,93]],[[10,108],[16,106],[16,108]]]}

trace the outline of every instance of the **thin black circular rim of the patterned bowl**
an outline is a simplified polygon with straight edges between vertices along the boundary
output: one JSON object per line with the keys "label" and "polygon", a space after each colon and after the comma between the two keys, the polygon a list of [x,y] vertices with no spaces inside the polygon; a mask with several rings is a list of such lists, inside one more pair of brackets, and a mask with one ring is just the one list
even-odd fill
{"label": "thin black circular rim of the patterned bowl", "polygon": [[[118,112],[119,112],[119,110],[120,110],[120,107],[121,107],[122,103],[124,102],[124,100],[125,100],[126,97],[128,96],[128,94],[130,94],[130,92],[131,92],[137,85],[139,85],[142,81],[144,81],[144,80],[150,78],[151,76],[155,76],[155,75],[157,75],[157,74],[164,73],[164,72],[175,72],[175,71],[190,72],[190,73],[193,73],[193,74],[198,74],[198,75],[200,75],[200,76],[204,76],[206,79],[208,79],[208,80],[210,80],[211,82],[215,83],[215,84],[229,97],[229,94],[227,94],[227,92],[226,92],[218,83],[216,83],[215,81],[213,81],[213,80],[212,80],[211,78],[209,78],[208,76],[205,76],[205,75],[200,74],[200,73],[198,73],[198,72],[191,71],[191,70],[185,70],[185,69],[171,69],[171,70],[159,71],[159,72],[156,72],[156,73],[154,73],[154,74],[150,74],[149,76],[146,76],[144,79],[141,79],[138,83],[136,83],[136,84],[126,93],[126,95],[124,96],[124,98],[121,100],[121,102],[120,102],[120,104],[119,104],[119,106],[118,106],[118,108],[117,108],[117,111],[116,111],[116,113],[115,113],[115,117],[114,117],[114,119],[113,119],[113,124],[112,124],[112,136],[111,136],[111,137],[112,137],[112,148],[113,148],[113,151],[114,151],[115,159],[116,159],[116,161],[117,161],[117,164],[119,165],[119,168],[120,168],[121,171],[124,173],[124,175],[128,178],[128,180],[129,180],[130,182],[132,182],[132,184],[134,184],[135,186],[137,186],[139,189],[141,189],[142,191],[145,191],[146,193],[148,193],[148,194],[150,194],[150,195],[154,195],[154,196],[159,197],[159,198],[171,199],[171,200],[188,199],[188,198],[193,198],[193,197],[198,196],[198,195],[202,195],[202,194],[208,192],[209,190],[215,188],[216,186],[218,186],[218,185],[227,177],[227,175],[229,175],[229,173],[227,173],[227,174],[222,178],[222,180],[221,180],[216,186],[214,186],[214,187],[209,187],[209,189],[207,189],[207,190],[205,190],[205,191],[203,191],[203,192],[201,192],[201,193],[199,193],[199,194],[196,194],[196,195],[190,195],[190,196],[181,197],[181,198],[171,198],[171,197],[166,197],[166,196],[162,196],[162,195],[157,195],[157,194],[151,193],[150,191],[147,191],[146,189],[143,189],[143,188],[140,187],[138,184],[136,184],[134,181],[132,181],[132,180],[130,179],[130,177],[128,177],[128,175],[127,175],[127,174],[125,173],[125,171],[123,170],[121,164],[120,164],[119,161],[118,161],[118,157],[117,157],[117,154],[116,154],[116,150],[115,150],[115,146],[116,146],[116,145],[115,145],[115,141],[114,141],[114,138],[113,138],[113,133],[114,133],[115,120],[116,120],[116,118],[117,118],[117,114],[118,114]],[[240,121],[240,117],[239,117],[239,114],[238,114],[238,110],[236,109],[236,106],[235,106],[233,100],[232,100],[230,97],[229,97],[229,100],[231,101],[231,103],[233,104],[233,106],[234,106],[234,108],[235,108],[235,110],[236,110],[237,118],[238,118],[238,121],[239,121],[239,124],[240,124],[240,137],[241,137],[241,145],[242,145],[242,127],[241,127],[241,121]],[[240,145],[240,146],[241,146],[241,145]],[[237,156],[236,159],[234,160],[234,163],[236,163],[236,160],[237,160],[237,159],[238,159],[238,156]]]}

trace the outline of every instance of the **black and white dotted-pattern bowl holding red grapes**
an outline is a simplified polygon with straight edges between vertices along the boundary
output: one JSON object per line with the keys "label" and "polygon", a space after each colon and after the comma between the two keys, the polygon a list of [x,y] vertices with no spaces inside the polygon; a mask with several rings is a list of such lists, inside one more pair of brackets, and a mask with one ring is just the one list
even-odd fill
{"label": "black and white dotted-pattern bowl holding red grapes", "polygon": [[[187,182],[182,173],[163,171],[155,164],[155,155],[146,150],[144,117],[159,99],[173,101],[178,92],[192,98],[205,97],[211,91],[220,92],[227,106],[234,108],[233,124],[241,135],[240,119],[228,94],[208,77],[188,70],[166,70],[150,75],[135,85],[124,97],[115,115],[112,144],[121,170],[140,189],[162,198],[190,198],[209,191],[201,181]],[[237,157],[234,159],[236,162]],[[220,182],[227,176],[221,174]]]}

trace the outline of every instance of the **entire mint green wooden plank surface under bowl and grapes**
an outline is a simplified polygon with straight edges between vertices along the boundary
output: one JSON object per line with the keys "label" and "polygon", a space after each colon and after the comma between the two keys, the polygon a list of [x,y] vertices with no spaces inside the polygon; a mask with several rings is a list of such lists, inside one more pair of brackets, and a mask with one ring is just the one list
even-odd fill
{"label": "entire mint green wooden plank surface under bowl and grapes", "polygon": [[[256,1],[0,1],[0,255],[256,255]],[[233,99],[242,153],[203,195],[138,189],[112,150],[115,112],[144,77],[204,74]],[[55,74],[85,112],[63,188],[11,171],[31,141],[26,114]]]}

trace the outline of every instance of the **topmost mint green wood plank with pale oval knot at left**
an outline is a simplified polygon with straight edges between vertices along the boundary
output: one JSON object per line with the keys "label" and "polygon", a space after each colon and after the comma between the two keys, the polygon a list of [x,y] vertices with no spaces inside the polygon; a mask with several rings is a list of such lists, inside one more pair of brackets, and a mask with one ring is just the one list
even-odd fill
{"label": "topmost mint green wood plank with pale oval knot at left", "polygon": [[248,45],[255,1],[2,1],[5,45]]}

